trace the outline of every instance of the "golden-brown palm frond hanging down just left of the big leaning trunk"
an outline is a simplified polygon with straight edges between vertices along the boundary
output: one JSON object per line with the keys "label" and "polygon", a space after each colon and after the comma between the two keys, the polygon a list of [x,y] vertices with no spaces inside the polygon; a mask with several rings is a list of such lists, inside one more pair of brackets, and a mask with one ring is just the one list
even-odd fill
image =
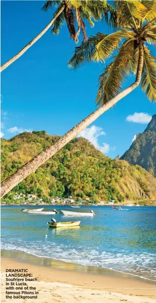
{"label": "golden-brown palm frond hanging down just left of the big leaning trunk", "polygon": [[[127,75],[134,70],[135,60],[133,41],[123,44],[113,62],[108,64],[99,77],[99,89],[96,103],[102,106],[118,95]],[[136,58],[135,58],[136,59]],[[133,68],[132,68],[133,67]]]}

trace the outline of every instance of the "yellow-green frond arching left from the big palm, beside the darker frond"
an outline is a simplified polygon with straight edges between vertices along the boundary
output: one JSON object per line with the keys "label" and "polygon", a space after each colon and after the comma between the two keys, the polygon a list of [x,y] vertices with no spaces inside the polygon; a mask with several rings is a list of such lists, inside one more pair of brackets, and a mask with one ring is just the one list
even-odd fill
{"label": "yellow-green frond arching left from the big palm, beside the darker frond", "polygon": [[130,30],[120,30],[106,35],[95,47],[95,52],[92,55],[94,61],[105,61],[116,48],[119,48],[119,43],[122,39],[134,38],[135,33]]}

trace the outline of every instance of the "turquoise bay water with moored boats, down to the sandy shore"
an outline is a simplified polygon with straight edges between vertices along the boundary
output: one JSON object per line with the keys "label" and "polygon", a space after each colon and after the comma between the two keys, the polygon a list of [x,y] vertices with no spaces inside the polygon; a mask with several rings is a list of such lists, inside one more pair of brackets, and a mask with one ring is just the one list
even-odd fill
{"label": "turquoise bay water with moored boats, down to the sandy shore", "polygon": [[[33,215],[21,212],[21,208],[1,208],[1,248],[156,280],[156,207],[122,207],[119,211],[107,206],[55,206],[58,211],[93,209],[94,217]],[[46,210],[53,208],[45,206]],[[81,220],[81,227],[50,229],[47,221],[52,217],[57,221]]]}

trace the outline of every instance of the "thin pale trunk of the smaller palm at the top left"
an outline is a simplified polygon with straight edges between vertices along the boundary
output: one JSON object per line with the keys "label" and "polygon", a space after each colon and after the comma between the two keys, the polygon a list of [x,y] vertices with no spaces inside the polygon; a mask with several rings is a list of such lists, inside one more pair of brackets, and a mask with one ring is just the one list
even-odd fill
{"label": "thin pale trunk of the smaller palm at the top left", "polygon": [[14,61],[16,61],[18,58],[20,58],[38,39],[40,39],[44,33],[51,27],[51,25],[54,23],[56,18],[62,13],[65,6],[62,6],[59,10],[59,12],[55,15],[55,17],[50,21],[50,23],[36,36],[34,37],[18,54],[16,54],[14,57],[12,57],[9,61],[4,63],[1,66],[1,71],[6,69],[10,64],[12,64]]}

